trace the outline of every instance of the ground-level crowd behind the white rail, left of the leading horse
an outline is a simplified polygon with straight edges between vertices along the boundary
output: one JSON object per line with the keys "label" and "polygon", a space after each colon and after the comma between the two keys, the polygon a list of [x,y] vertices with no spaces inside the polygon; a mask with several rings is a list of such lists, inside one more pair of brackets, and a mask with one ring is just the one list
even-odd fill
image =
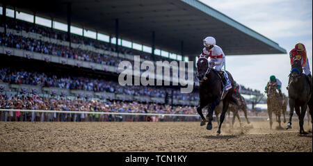
{"label": "ground-level crowd behind the white rail, left of the leading horse", "polygon": [[[39,113],[34,111],[4,111],[1,112],[0,121],[22,122],[111,122],[111,121],[150,121],[147,116],[113,116],[99,115],[97,112],[109,113],[166,113],[166,114],[196,114],[195,107],[159,105],[157,103],[138,103],[125,101],[96,101],[84,99],[70,99],[54,97],[40,97],[31,94],[19,95],[1,94],[1,109],[15,110],[64,110],[90,113]],[[160,120],[164,117],[150,117]],[[174,118],[174,117],[170,117]]]}

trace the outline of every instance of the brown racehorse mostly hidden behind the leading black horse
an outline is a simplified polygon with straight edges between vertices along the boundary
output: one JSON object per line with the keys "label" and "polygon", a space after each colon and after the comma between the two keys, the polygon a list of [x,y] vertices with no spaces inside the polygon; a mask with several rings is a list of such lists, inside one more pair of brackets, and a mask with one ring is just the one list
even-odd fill
{"label": "brown racehorse mostly hidden behind the leading black horse", "polygon": [[[220,103],[214,110],[214,113],[217,117],[218,124],[220,124],[220,118],[218,118],[218,115],[220,113],[222,113],[222,109],[223,109],[223,103]],[[239,94],[239,106],[237,106],[236,104],[233,104],[233,103],[230,103],[230,106],[228,106],[228,113],[230,113],[230,112],[233,113],[232,126],[234,126],[234,120],[236,117],[239,120],[239,124],[241,126],[241,119],[239,117],[239,110],[243,110],[243,113],[245,114],[247,123],[250,124],[249,119],[248,119],[248,114],[247,114],[247,104],[246,104],[245,99],[241,96],[241,94]]]}

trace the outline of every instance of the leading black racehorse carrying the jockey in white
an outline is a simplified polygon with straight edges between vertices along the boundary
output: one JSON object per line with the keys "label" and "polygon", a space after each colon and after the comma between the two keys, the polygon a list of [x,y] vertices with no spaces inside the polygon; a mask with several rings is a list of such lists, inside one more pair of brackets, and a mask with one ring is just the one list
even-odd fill
{"label": "leading black racehorse carrying the jockey in white", "polygon": [[[227,72],[227,71],[225,71]],[[198,58],[197,62],[197,76],[200,81],[199,86],[199,106],[197,108],[197,112],[199,113],[202,122],[200,123],[200,126],[203,126],[206,122],[207,129],[212,129],[212,120],[213,120],[213,111],[218,106],[220,101],[223,100],[223,111],[220,115],[220,124],[218,125],[218,135],[220,134],[220,128],[224,122],[225,113],[228,110],[228,106],[230,101],[237,103],[236,99],[232,97],[232,94],[234,92],[234,79],[232,78],[232,75],[227,72],[228,78],[230,79],[232,88],[230,90],[227,90],[226,92],[223,91],[223,85],[222,85],[222,78],[220,78],[220,75],[218,72],[211,67],[209,64],[209,60],[206,57],[200,57]],[[209,107],[207,119],[204,118],[202,113],[202,108],[205,106]]]}

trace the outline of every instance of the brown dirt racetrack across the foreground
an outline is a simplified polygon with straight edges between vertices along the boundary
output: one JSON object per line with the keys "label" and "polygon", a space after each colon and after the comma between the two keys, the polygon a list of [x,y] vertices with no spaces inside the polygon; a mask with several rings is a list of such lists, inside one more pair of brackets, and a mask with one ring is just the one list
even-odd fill
{"label": "brown dirt racetrack across the foreground", "polygon": [[[0,151],[309,151],[312,133],[266,120],[207,131],[200,122],[0,122]],[[283,127],[286,124],[282,124]],[[309,126],[305,122],[305,131]],[[312,124],[310,124],[312,131]]]}

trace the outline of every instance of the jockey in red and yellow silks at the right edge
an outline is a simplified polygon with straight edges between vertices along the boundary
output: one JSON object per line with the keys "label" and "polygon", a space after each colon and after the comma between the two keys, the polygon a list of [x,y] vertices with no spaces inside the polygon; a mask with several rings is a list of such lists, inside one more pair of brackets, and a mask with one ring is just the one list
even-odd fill
{"label": "jockey in red and yellow silks at the right edge", "polygon": [[[300,42],[297,43],[296,46],[294,47],[294,49],[292,49],[290,51],[289,57],[290,57],[290,64],[291,65],[292,65],[292,63],[294,63],[295,59],[301,60],[301,65],[303,67],[304,74],[309,79],[310,87],[312,87],[312,75],[310,72],[310,64],[309,64],[309,60],[307,58],[307,51],[305,50],[304,44],[302,44]],[[288,81],[287,90],[289,87],[289,82],[290,82],[290,77],[289,77],[289,81]]]}

